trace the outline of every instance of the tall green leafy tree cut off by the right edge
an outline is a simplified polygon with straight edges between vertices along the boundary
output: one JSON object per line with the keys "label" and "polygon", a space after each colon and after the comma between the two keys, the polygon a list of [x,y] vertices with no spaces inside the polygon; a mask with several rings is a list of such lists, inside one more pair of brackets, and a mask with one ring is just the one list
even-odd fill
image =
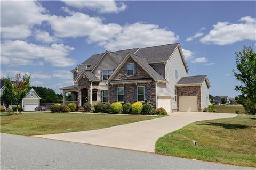
{"label": "tall green leafy tree cut off by the right edge", "polygon": [[244,46],[242,52],[236,52],[236,66],[238,72],[234,75],[242,84],[235,87],[241,95],[238,96],[246,113],[256,114],[256,53],[252,47]]}

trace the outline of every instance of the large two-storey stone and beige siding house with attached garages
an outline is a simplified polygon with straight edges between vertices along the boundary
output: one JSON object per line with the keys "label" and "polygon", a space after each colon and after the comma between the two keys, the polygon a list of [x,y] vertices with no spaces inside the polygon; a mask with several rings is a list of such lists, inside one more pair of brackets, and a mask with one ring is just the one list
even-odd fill
{"label": "large two-storey stone and beige siding house with attached garages", "polygon": [[[172,111],[202,111],[208,106],[209,80],[187,77],[187,62],[179,43],[95,54],[79,64],[73,85],[60,88],[73,93],[81,107],[91,104],[141,101]],[[182,82],[182,83],[178,83]],[[178,83],[178,84],[177,84]]]}

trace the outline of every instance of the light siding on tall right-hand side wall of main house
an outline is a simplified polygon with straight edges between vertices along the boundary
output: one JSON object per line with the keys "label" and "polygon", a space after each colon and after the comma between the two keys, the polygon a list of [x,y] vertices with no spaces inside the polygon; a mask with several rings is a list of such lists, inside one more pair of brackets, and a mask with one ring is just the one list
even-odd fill
{"label": "light siding on tall right-hand side wall of main house", "polygon": [[[175,70],[178,70],[178,78],[175,78]],[[177,101],[173,100],[174,90],[176,83],[181,77],[186,77],[187,72],[185,65],[182,62],[182,58],[179,52],[179,48],[176,48],[166,63],[166,80],[169,82],[166,85],[163,83],[157,83],[157,95],[158,96],[172,96],[172,109],[177,109]]]}

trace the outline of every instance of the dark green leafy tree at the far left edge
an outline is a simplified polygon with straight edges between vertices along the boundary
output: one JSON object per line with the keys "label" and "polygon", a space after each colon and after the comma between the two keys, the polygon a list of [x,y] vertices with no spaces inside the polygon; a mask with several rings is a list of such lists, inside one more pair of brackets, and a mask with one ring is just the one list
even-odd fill
{"label": "dark green leafy tree at the far left edge", "polygon": [[7,105],[7,107],[14,103],[12,91],[12,79],[10,77],[4,78],[4,90],[1,95],[1,100],[4,101],[4,104]]}

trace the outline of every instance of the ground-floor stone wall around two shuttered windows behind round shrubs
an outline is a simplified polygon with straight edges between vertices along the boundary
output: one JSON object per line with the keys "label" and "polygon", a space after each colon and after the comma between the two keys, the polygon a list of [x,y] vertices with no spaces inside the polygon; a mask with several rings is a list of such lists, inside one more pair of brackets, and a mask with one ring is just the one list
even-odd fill
{"label": "ground-floor stone wall around two shuttered windows behind round shrubs", "polygon": [[134,100],[134,87],[135,86],[145,86],[147,85],[147,103],[153,105],[156,108],[156,86],[155,82],[148,83],[138,83],[136,84],[124,84],[124,85],[109,85],[109,102],[115,102],[115,87],[126,87],[126,102],[133,104]]}

